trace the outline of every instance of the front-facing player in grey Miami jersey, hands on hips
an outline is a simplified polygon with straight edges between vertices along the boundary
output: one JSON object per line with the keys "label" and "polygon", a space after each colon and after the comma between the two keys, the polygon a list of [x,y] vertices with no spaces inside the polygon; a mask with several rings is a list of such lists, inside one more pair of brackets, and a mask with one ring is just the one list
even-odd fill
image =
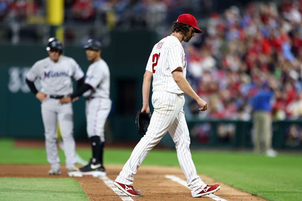
{"label": "front-facing player in grey Miami jersey, hands on hips", "polygon": [[[50,38],[46,48],[49,57],[37,61],[26,75],[26,82],[31,91],[41,102],[42,119],[45,130],[45,147],[50,175],[61,174],[56,146],[56,128],[59,122],[66,156],[68,173],[79,171],[75,167],[75,140],[73,138],[72,103],[59,104],[59,99],[72,93],[72,77],[78,85],[84,82],[84,73],[73,58],[61,55],[63,44]],[[37,91],[34,81],[40,78],[41,90]]]}

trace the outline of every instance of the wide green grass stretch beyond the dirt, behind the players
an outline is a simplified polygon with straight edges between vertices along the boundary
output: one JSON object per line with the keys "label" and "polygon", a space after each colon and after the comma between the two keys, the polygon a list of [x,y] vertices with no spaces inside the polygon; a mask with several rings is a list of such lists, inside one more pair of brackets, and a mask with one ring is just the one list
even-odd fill
{"label": "wide green grass stretch beyond the dirt, behind the players", "polygon": [[[0,163],[47,164],[44,149],[16,149],[12,145],[12,140],[0,140]],[[84,159],[91,157],[90,149],[77,149],[77,152]],[[132,149],[107,148],[104,163],[123,165],[131,152]],[[194,150],[191,153],[198,174],[264,199],[302,200],[302,155],[279,154],[268,158],[248,152]],[[62,151],[59,156],[64,163]],[[142,165],[179,167],[175,150],[158,149],[152,150]]]}

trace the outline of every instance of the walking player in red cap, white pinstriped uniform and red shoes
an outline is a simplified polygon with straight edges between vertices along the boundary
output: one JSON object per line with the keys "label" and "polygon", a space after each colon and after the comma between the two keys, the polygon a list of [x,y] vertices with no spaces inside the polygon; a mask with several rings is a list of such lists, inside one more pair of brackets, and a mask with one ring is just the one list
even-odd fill
{"label": "walking player in red cap, white pinstriped uniform and red shoes", "polygon": [[201,106],[207,109],[207,102],[201,99],[186,80],[187,60],[181,42],[189,42],[195,33],[202,31],[197,28],[195,17],[182,14],[172,24],[172,34],[160,40],[150,54],[143,79],[142,112],[150,112],[149,91],[153,77],[152,104],[154,112],[146,132],[135,146],[123,170],[114,181],[114,185],[129,196],[141,196],[133,188],[133,177],[137,168],[151,149],[159,143],[167,131],[176,144],[177,157],[188,182],[193,197],[200,197],[217,191],[220,185],[207,185],[196,173],[191,158],[190,137],[185,120],[183,93],[188,94]]}

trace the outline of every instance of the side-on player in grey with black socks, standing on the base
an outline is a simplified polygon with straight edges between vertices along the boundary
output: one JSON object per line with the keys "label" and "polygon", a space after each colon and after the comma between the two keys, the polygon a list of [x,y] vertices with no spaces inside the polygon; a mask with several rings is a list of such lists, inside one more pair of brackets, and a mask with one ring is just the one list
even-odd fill
{"label": "side-on player in grey with black socks, standing on the base", "polygon": [[85,84],[60,102],[68,103],[82,94],[85,97],[87,134],[92,146],[92,159],[88,165],[80,168],[80,174],[73,172],[73,176],[98,177],[106,175],[103,166],[103,149],[104,125],[111,109],[110,71],[107,63],[101,58],[101,42],[89,39],[84,49],[86,49],[87,60],[92,63],[88,67]]}

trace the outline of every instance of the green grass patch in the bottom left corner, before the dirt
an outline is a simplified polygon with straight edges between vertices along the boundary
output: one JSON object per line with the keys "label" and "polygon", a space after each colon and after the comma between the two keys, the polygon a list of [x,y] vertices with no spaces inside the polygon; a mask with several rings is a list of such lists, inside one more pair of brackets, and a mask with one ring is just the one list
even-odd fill
{"label": "green grass patch in the bottom left corner, before the dirt", "polygon": [[0,177],[0,200],[87,200],[72,178]]}

